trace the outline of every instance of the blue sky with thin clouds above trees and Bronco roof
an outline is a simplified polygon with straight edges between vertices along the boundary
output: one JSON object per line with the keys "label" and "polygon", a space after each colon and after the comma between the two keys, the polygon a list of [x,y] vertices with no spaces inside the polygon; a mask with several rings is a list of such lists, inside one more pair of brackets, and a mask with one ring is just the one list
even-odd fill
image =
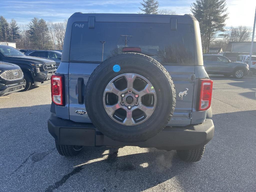
{"label": "blue sky with thin clouds above trees and Bronco roof", "polygon": [[[28,24],[33,17],[62,22],[75,12],[82,13],[137,13],[142,0],[0,0],[0,15],[8,22]],[[158,0],[159,9],[175,10],[177,14],[191,14],[195,0]],[[229,19],[226,26],[253,26],[256,0],[226,0]]]}

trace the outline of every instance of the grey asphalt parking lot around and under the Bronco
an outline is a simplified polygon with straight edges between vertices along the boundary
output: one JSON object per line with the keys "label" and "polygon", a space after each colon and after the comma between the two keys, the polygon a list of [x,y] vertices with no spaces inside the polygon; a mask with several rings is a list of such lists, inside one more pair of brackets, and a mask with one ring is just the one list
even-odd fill
{"label": "grey asphalt parking lot around and under the Bronco", "polygon": [[256,191],[256,77],[210,78],[215,136],[197,163],[128,146],[60,156],[49,84],[0,97],[0,191]]}

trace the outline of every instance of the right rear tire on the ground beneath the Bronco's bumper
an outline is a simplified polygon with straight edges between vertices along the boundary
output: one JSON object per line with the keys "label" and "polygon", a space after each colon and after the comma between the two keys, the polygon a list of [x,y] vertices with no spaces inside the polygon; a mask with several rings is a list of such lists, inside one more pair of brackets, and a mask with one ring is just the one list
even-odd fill
{"label": "right rear tire on the ground beneath the Bronco's bumper", "polygon": [[205,152],[205,146],[198,149],[190,150],[177,150],[177,154],[180,159],[185,162],[197,162],[200,161]]}

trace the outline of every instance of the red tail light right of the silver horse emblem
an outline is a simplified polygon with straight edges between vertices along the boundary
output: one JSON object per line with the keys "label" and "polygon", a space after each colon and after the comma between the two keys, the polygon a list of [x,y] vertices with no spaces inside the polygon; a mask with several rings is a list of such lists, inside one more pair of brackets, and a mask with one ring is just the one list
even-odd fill
{"label": "red tail light right of the silver horse emblem", "polygon": [[199,98],[199,111],[205,111],[211,106],[211,96],[212,96],[212,80],[210,79],[200,79],[201,80],[201,89],[200,89],[200,98]]}

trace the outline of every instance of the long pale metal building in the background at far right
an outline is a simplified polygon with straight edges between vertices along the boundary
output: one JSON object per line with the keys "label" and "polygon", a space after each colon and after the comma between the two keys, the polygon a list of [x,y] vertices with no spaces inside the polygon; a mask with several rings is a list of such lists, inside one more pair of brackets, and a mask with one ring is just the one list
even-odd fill
{"label": "long pale metal building in the background at far right", "polygon": [[[227,52],[244,52],[249,53],[251,48],[251,41],[233,42],[230,41],[227,45]],[[252,52],[256,53],[256,41],[253,42]]]}

